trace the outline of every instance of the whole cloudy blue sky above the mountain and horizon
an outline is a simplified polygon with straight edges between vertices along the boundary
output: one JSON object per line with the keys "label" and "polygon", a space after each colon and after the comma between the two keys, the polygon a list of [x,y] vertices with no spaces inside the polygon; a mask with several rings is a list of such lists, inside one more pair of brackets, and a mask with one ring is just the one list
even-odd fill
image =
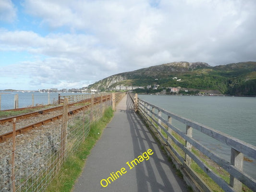
{"label": "whole cloudy blue sky above the mountain and horizon", "polygon": [[0,0],[0,90],[174,61],[256,61],[256,0]]}

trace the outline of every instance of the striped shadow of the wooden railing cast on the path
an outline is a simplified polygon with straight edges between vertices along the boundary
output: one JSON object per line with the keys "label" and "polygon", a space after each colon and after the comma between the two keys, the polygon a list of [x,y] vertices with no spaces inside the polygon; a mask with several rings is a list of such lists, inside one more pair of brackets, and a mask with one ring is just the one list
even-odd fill
{"label": "striped shadow of the wooden railing cast on the path", "polygon": [[[158,152],[159,149],[157,148],[159,146],[142,120],[134,112],[133,102],[130,96],[127,96],[126,114],[133,138],[134,158],[142,155],[148,149],[152,149],[154,152],[148,161],[145,160],[134,167],[138,192],[187,191],[187,189],[179,185],[183,180],[175,174],[175,170],[171,168],[171,163],[167,157]],[[184,183],[182,183],[182,186],[184,186]]]}

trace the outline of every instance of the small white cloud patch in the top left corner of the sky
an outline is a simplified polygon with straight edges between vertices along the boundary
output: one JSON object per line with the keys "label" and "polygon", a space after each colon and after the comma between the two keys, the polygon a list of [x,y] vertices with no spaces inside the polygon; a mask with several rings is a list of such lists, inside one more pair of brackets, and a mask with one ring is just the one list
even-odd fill
{"label": "small white cloud patch in the top left corner of the sky", "polygon": [[16,9],[11,0],[0,1],[0,21],[12,22],[16,18]]}

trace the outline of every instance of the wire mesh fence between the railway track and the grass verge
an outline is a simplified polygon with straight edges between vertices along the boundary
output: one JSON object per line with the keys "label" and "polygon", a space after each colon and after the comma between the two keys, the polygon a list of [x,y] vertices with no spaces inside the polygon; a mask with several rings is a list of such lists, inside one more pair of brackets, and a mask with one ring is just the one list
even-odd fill
{"label": "wire mesh fence between the railway track and the grass verge", "polygon": [[[65,159],[85,141],[91,121],[99,120],[110,106],[111,101],[102,102],[71,116],[67,123],[50,124],[36,130],[38,134],[17,135],[1,145],[0,150],[4,150],[0,151],[0,192],[44,191]],[[67,126],[61,137],[63,123]],[[15,141],[16,149],[12,150]]]}

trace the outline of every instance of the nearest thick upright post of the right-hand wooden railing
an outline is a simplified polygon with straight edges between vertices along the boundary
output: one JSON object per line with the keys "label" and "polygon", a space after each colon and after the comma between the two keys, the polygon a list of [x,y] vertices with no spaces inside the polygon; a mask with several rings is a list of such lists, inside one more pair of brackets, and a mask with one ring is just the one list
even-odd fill
{"label": "nearest thick upright post of the right-hand wooden railing", "polygon": [[[244,154],[231,148],[231,159],[230,163],[239,170],[243,170],[244,167]],[[234,188],[235,192],[242,191],[242,182],[230,175],[230,185]]]}

